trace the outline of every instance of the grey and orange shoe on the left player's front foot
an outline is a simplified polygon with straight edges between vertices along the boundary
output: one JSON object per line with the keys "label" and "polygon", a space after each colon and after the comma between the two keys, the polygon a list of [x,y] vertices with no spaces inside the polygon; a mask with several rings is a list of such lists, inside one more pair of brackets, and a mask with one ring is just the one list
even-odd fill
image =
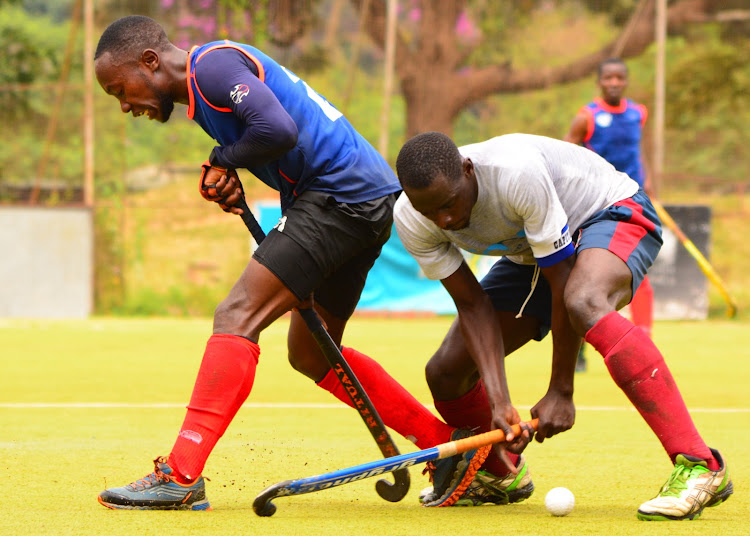
{"label": "grey and orange shoe on the left player's front foot", "polygon": [[99,502],[116,510],[210,510],[206,482],[199,477],[192,484],[180,484],[170,475],[167,458],[154,460],[154,472],[121,488],[99,494]]}

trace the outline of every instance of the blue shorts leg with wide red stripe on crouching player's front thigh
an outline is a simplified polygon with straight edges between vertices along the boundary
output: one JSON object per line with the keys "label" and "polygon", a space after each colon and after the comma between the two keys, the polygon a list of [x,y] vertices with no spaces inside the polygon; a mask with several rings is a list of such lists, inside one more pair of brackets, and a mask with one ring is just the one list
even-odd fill
{"label": "blue shorts leg with wide red stripe on crouching player's front thigh", "polygon": [[576,234],[577,251],[607,249],[628,265],[633,274],[633,293],[662,245],[661,222],[643,190],[600,210],[581,225]]}

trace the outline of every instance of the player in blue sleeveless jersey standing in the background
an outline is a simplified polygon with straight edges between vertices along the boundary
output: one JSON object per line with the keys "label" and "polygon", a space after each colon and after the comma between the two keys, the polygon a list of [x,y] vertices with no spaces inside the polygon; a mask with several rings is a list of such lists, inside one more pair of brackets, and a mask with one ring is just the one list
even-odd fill
{"label": "player in blue sleeveless jersey standing in the background", "polygon": [[[653,195],[641,156],[641,138],[648,110],[623,97],[628,87],[628,68],[617,58],[604,60],[597,71],[601,96],[583,106],[563,138],[584,145],[604,157],[617,171],[627,173],[649,196]],[[654,322],[654,291],[647,277],[630,303],[633,323],[651,336]],[[583,346],[576,370],[586,369]]]}

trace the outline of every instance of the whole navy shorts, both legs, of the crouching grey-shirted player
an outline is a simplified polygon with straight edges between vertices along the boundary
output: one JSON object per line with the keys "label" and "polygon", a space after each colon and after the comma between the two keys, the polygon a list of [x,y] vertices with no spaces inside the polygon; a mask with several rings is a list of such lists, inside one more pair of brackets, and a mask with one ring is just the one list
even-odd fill
{"label": "whole navy shorts, both legs, of the crouching grey-shirted player", "polygon": [[[621,258],[633,275],[635,294],[661,249],[661,222],[651,200],[639,190],[633,197],[594,214],[574,233],[574,241],[576,251],[601,248]],[[505,257],[490,268],[480,283],[496,310],[512,313],[521,310],[531,292],[535,268],[516,264]],[[539,320],[539,333],[534,339],[542,340],[552,323],[552,292],[541,273],[533,294],[523,307],[523,315]]]}

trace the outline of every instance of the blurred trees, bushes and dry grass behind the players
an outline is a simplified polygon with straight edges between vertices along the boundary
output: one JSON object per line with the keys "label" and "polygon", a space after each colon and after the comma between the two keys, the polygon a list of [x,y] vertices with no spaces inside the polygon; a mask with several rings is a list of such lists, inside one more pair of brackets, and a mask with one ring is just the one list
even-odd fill
{"label": "blurred trees, bushes and dry grass behind the players", "polygon": [[[99,35],[126,14],[157,19],[182,48],[229,38],[267,51],[391,163],[425,130],[459,144],[561,138],[598,95],[598,62],[619,54],[627,96],[651,111],[644,149],[659,197],[712,206],[712,261],[750,293],[737,262],[750,254],[738,223],[750,212],[750,0],[0,0],[0,210],[89,211],[93,269],[78,276],[90,279],[92,311],[211,314],[249,249],[242,226],[195,192],[212,140],[179,108],[167,125],[134,121],[92,80]],[[243,177],[253,200],[274,198]],[[4,263],[32,247],[0,246]]]}

